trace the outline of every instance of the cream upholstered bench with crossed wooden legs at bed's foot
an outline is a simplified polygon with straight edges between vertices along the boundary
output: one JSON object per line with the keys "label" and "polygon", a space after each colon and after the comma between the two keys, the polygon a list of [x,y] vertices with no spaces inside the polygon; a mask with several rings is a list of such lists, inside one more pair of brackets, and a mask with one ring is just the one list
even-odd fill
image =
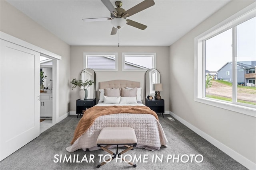
{"label": "cream upholstered bench with crossed wooden legs at bed's foot", "polygon": [[[102,145],[106,145],[103,147]],[[116,153],[112,152],[108,149],[111,145],[116,145]],[[127,147],[127,149],[123,150],[122,152],[118,153],[118,145],[124,145]],[[131,145],[131,146],[129,146]],[[104,127],[100,131],[100,135],[97,139],[97,146],[101,149],[105,150],[106,152],[114,155],[112,158],[109,158],[105,162],[102,162],[98,165],[98,168],[106,162],[109,162],[110,159],[113,160],[116,157],[120,157],[121,154],[124,154],[128,150],[133,149],[137,145],[137,138],[134,132],[134,129],[131,127]],[[122,158],[123,161],[127,162]],[[136,167],[136,164],[133,164],[132,162],[128,162],[128,164]]]}

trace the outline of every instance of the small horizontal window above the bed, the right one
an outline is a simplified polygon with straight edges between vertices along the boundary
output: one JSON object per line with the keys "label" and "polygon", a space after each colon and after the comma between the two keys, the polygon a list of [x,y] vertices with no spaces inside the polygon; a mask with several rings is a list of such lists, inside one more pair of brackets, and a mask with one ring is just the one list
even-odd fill
{"label": "small horizontal window above the bed, the right one", "polygon": [[122,53],[123,71],[144,71],[156,68],[156,53]]}

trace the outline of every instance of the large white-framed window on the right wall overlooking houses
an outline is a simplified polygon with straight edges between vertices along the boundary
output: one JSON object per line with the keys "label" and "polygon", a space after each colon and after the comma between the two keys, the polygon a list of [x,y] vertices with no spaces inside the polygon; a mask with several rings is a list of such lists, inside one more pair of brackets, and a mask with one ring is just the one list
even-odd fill
{"label": "large white-framed window on the right wall overlooking houses", "polygon": [[255,47],[253,6],[196,37],[195,100],[256,117]]}

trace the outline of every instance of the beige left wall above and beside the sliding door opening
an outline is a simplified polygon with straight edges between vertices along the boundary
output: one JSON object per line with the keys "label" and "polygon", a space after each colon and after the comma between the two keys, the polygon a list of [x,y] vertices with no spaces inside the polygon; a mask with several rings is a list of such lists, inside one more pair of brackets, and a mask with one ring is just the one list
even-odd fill
{"label": "beige left wall above and beside the sliding door opening", "polygon": [[0,31],[62,57],[59,62],[59,117],[68,113],[70,45],[3,0],[0,0]]}

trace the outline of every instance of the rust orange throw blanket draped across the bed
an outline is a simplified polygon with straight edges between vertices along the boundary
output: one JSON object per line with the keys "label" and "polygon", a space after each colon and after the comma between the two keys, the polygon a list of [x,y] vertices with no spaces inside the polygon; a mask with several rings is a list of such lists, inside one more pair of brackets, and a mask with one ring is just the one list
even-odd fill
{"label": "rust orange throw blanket draped across the bed", "polygon": [[78,122],[71,145],[92,126],[97,117],[116,113],[151,114],[158,120],[156,112],[147,106],[94,106],[87,109]]}

